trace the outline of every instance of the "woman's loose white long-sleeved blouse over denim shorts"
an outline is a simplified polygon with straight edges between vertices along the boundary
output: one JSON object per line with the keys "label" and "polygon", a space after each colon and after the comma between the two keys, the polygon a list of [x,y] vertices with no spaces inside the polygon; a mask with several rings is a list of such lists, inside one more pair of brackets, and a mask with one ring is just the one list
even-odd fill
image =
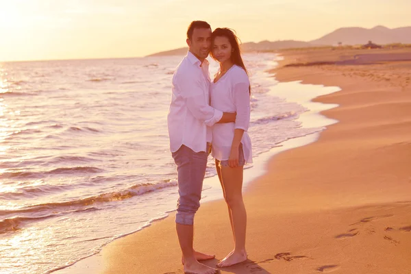
{"label": "woman's loose white long-sleeved blouse over denim shorts", "polygon": [[237,112],[235,123],[216,123],[212,126],[212,156],[228,160],[234,138],[234,129],[244,129],[242,151],[247,163],[252,163],[251,139],[247,133],[250,123],[249,77],[240,66],[232,66],[210,87],[212,108],[222,112]]}

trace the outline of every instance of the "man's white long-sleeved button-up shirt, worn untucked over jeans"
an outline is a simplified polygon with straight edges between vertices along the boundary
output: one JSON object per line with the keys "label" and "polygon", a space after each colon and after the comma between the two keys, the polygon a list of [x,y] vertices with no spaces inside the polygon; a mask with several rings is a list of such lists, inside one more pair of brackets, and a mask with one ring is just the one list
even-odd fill
{"label": "man's white long-sleeved button-up shirt, worn untucked over jeans", "polygon": [[185,145],[195,152],[206,151],[212,141],[211,126],[223,112],[210,106],[210,73],[207,60],[201,61],[188,51],[173,75],[171,104],[167,122],[170,149]]}

